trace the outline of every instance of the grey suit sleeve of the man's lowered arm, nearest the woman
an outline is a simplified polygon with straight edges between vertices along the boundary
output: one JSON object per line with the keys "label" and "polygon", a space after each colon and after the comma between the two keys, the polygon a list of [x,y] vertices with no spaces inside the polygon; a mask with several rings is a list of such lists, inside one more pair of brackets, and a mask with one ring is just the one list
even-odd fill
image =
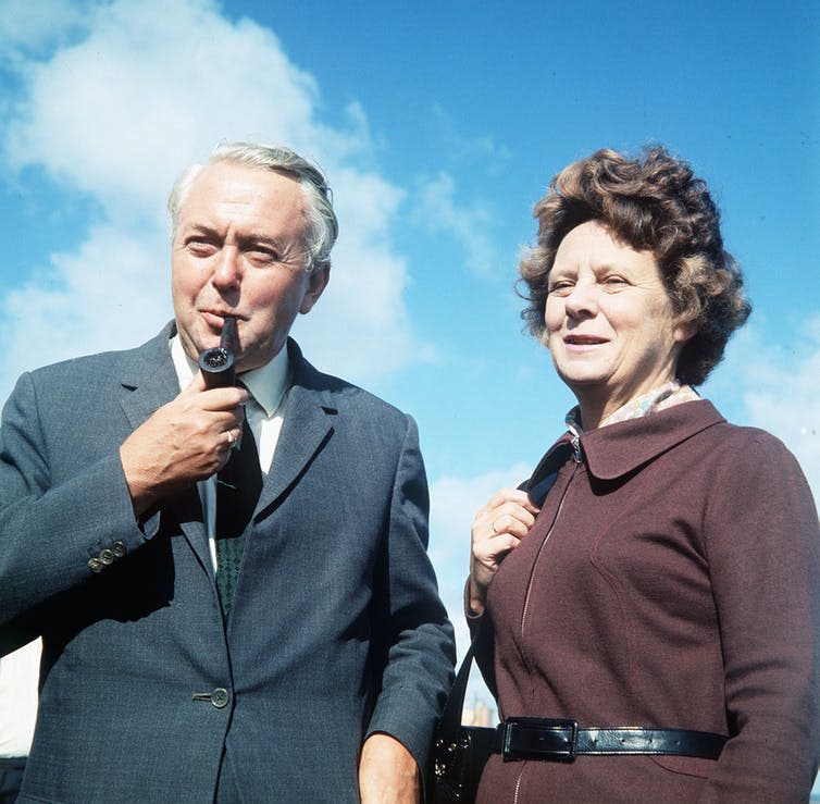
{"label": "grey suit sleeve of the man's lowered arm, nearest the woman", "polygon": [[427,557],[428,496],[415,422],[398,459],[381,573],[383,670],[366,735],[399,740],[423,770],[452,680],[452,626]]}

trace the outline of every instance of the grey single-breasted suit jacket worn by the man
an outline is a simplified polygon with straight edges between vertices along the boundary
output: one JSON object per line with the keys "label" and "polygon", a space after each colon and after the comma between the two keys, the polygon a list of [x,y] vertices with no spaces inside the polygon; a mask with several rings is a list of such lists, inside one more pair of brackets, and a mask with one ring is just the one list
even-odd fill
{"label": "grey single-breasted suit jacket worn by the man", "polygon": [[452,666],[415,425],[288,343],[223,626],[196,490],[136,522],[119,458],[177,393],[173,332],[25,374],[3,411],[0,647],[44,639],[21,801],[211,802],[223,752],[247,802],[357,801],[369,733],[423,766]]}

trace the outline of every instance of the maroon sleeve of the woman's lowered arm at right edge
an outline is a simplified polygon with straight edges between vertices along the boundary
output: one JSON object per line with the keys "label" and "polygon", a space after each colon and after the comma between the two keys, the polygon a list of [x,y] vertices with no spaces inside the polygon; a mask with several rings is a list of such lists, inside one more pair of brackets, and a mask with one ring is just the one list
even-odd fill
{"label": "maroon sleeve of the woman's lowered arm at right edge", "polygon": [[704,521],[730,729],[715,804],[807,801],[820,750],[817,511],[793,456],[751,433],[728,445]]}

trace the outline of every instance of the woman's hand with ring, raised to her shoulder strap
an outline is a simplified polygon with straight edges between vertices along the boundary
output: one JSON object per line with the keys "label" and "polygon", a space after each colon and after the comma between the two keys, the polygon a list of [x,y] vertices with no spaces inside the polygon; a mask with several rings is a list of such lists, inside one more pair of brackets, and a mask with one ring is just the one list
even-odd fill
{"label": "woman's hand with ring, raised to her shoulder strap", "polygon": [[475,515],[470,553],[470,608],[473,614],[484,614],[493,577],[505,556],[533,527],[537,512],[526,492],[501,488]]}

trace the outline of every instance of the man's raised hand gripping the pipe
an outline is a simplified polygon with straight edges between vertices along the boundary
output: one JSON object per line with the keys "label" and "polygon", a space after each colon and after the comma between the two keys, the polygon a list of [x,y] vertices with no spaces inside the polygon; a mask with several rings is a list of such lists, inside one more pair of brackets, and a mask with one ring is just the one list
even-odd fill
{"label": "man's raised hand gripping the pipe", "polygon": [[225,465],[241,435],[247,398],[245,388],[206,389],[198,372],[123,442],[120,460],[137,516]]}

